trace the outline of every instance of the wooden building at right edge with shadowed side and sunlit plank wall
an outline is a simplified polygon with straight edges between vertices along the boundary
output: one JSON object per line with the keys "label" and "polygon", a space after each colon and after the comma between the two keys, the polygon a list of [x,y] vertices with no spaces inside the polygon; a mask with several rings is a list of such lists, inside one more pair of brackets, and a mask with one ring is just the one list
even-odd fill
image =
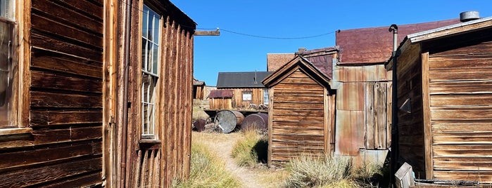
{"label": "wooden building at right edge with shadowed side and sunlit plank wall", "polygon": [[398,47],[398,163],[427,180],[492,182],[492,18],[409,34]]}

